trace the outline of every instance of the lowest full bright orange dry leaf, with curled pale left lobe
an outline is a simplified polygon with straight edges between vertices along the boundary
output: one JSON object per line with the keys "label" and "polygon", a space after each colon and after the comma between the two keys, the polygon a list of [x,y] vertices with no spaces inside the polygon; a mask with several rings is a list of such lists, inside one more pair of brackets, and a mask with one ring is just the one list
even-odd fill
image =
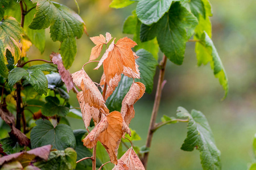
{"label": "lowest full bright orange dry leaf, with curled pale left lobe", "polygon": [[82,142],[84,142],[84,146],[92,148],[97,141],[100,141],[109,154],[110,162],[117,164],[117,150],[121,142],[123,129],[122,115],[120,112],[114,111],[103,117]]}

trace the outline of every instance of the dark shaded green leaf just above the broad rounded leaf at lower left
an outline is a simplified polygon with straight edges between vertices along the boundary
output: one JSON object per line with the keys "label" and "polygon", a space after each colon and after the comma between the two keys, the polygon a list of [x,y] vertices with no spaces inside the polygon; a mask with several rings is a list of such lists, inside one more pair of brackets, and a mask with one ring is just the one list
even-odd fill
{"label": "dark shaded green leaf just above the broad rounded leaf at lower left", "polygon": [[59,105],[60,100],[57,97],[47,96],[47,103],[42,107],[42,114],[44,116],[54,116],[55,114],[59,116],[66,116],[69,112],[69,108]]}

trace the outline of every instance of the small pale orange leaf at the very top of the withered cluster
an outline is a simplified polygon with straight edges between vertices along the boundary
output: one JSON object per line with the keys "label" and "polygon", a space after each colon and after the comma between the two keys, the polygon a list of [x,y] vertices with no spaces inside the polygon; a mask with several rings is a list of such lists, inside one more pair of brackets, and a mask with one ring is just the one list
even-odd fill
{"label": "small pale orange leaf at the very top of the withered cluster", "polygon": [[108,44],[108,42],[112,39],[112,36],[110,33],[106,33],[106,38],[103,35],[90,37],[90,40],[93,41],[93,43],[96,45],[92,48],[92,52],[90,53],[90,59],[89,61],[92,61],[101,54],[101,50],[104,44]]}

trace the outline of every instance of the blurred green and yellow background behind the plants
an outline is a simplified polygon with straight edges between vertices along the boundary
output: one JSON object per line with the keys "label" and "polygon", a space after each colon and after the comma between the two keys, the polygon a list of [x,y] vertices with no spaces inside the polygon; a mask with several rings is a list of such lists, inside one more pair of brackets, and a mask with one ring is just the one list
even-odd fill
{"label": "blurred green and yellow background behind the plants", "polygon": [[[74,1],[60,0],[77,11]],[[90,37],[110,32],[117,39],[123,35],[122,24],[134,10],[135,4],[122,8],[109,8],[110,0],[77,0],[80,16],[84,19]],[[163,114],[176,116],[179,106],[188,111],[203,112],[212,128],[216,145],[221,151],[222,169],[247,169],[253,161],[252,142],[256,133],[256,3],[255,0],[231,1],[211,0],[213,17],[213,42],[218,50],[229,78],[229,94],[224,101],[224,91],[214,78],[210,66],[197,66],[194,42],[187,43],[184,63],[176,66],[167,63],[162,101],[157,122]],[[131,37],[132,38],[132,37]],[[59,42],[52,42],[47,29],[46,50],[40,54],[32,47],[28,56],[49,59],[52,51],[57,52]],[[89,60],[94,46],[86,35],[77,40],[77,56],[71,73],[81,69]],[[160,54],[159,59],[162,58]],[[86,65],[85,71],[95,82],[99,82],[102,69],[93,70],[97,63]],[[156,73],[158,74],[158,72]],[[155,86],[156,88],[156,79]],[[142,137],[135,142],[145,145],[147,129],[154,103],[154,94],[145,94],[135,104],[135,118],[130,128]],[[75,94],[70,92],[71,104],[79,106]],[[84,129],[81,120],[70,119],[73,129]],[[185,152],[180,147],[186,137],[186,124],[179,123],[160,128],[154,134],[148,169],[201,169],[199,151]]]}

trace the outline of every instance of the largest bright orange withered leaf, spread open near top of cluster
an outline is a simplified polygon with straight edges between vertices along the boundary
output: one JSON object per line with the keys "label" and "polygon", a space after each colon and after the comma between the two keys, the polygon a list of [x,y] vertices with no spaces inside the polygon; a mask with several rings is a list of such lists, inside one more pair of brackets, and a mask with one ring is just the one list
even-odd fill
{"label": "largest bright orange withered leaf, spread open near top of cluster", "polygon": [[126,67],[135,74],[139,74],[138,69],[136,69],[134,54],[131,50],[135,45],[137,45],[136,42],[127,37],[118,40],[116,44],[114,44],[113,40],[112,44],[109,45],[108,50],[106,50],[98,66],[95,68],[98,69],[103,63],[106,83],[108,85],[110,79],[114,78],[116,74],[122,74],[123,69]]}

